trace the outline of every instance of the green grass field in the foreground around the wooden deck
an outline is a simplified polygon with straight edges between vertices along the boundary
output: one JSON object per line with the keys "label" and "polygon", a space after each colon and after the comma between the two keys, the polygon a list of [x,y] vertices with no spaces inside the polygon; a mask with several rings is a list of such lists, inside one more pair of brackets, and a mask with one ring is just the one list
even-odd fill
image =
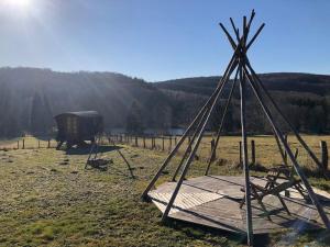
{"label": "green grass field in the foreground around the wooden deck", "polygon": [[[316,150],[320,139],[329,141],[330,137],[307,137]],[[238,142],[238,137],[223,138],[223,150],[218,156],[227,161],[213,166],[212,173],[242,172],[234,165]],[[255,142],[258,162],[277,162],[275,143],[270,137],[255,137]],[[290,138],[289,142],[295,145]],[[208,143],[205,141],[201,157],[209,151]],[[160,211],[152,203],[141,202],[140,195],[166,157],[166,151],[121,147],[133,167],[135,179],[130,178],[118,153],[107,147],[102,157],[112,159],[113,164],[105,171],[84,169],[88,150],[0,150],[0,246],[244,245],[243,236],[178,222],[162,224]],[[304,161],[304,153],[300,155]],[[204,158],[196,160],[189,176],[202,175],[205,166]],[[172,165],[158,183],[168,180],[173,170]],[[330,183],[326,180],[311,178],[310,181],[330,191]],[[268,246],[330,245],[329,233],[324,231],[279,232],[256,240]]]}

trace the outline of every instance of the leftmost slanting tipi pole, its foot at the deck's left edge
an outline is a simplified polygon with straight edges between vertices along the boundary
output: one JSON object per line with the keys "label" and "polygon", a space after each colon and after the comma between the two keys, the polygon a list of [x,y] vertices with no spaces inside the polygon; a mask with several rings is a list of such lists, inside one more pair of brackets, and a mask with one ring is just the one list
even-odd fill
{"label": "leftmost slanting tipi pole, its foot at the deck's left edge", "polygon": [[155,182],[158,180],[158,178],[162,175],[163,170],[166,168],[166,166],[168,165],[168,162],[172,160],[173,156],[177,153],[177,150],[179,149],[179,147],[182,146],[182,144],[185,142],[185,139],[186,139],[188,133],[190,132],[190,130],[196,125],[196,122],[200,119],[200,116],[202,115],[202,113],[206,110],[208,110],[208,106],[209,106],[210,102],[217,96],[218,91],[222,91],[223,86],[224,86],[224,79],[229,78],[230,75],[232,74],[233,69],[238,66],[238,61],[237,61],[235,56],[237,56],[237,54],[234,53],[232,55],[232,57],[231,57],[231,60],[230,60],[230,63],[229,63],[226,71],[224,71],[224,74],[223,74],[223,77],[221,77],[221,79],[219,81],[219,85],[217,86],[216,90],[209,97],[208,101],[204,104],[204,106],[200,109],[200,111],[198,112],[198,114],[195,116],[194,121],[190,123],[190,125],[188,126],[188,128],[185,131],[185,133],[183,134],[183,136],[179,138],[177,145],[173,148],[173,150],[166,157],[166,159],[164,160],[164,162],[160,167],[160,169],[156,172],[156,175],[154,176],[154,178],[151,180],[151,182],[147,184],[147,187],[143,191],[143,193],[141,195],[142,200],[147,200],[147,193],[148,193],[148,191],[154,187]]}

